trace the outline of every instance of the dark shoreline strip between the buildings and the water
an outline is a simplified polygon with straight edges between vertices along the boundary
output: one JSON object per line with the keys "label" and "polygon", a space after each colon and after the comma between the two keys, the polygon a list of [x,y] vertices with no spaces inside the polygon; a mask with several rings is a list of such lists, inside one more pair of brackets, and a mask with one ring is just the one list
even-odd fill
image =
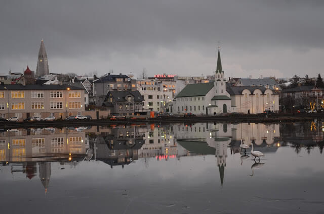
{"label": "dark shoreline strip between the buildings and the water", "polygon": [[169,117],[169,118],[138,118],[123,120],[78,120],[76,121],[33,121],[33,122],[0,122],[0,129],[24,128],[24,127],[62,127],[62,126],[105,126],[105,125],[132,125],[132,124],[166,124],[166,123],[201,123],[201,122],[229,122],[229,123],[275,123],[275,122],[299,122],[313,119],[324,119],[324,113],[317,114],[279,114],[266,117],[265,115],[227,115],[227,116],[203,116],[203,117]]}

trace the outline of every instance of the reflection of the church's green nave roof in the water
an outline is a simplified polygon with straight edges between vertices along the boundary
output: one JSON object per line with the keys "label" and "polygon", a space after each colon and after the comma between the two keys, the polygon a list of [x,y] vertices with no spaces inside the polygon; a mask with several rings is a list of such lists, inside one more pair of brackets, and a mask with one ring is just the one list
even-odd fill
{"label": "reflection of the church's green nave roof in the water", "polygon": [[195,154],[215,154],[215,148],[207,144],[207,142],[194,141],[177,141],[182,147]]}

